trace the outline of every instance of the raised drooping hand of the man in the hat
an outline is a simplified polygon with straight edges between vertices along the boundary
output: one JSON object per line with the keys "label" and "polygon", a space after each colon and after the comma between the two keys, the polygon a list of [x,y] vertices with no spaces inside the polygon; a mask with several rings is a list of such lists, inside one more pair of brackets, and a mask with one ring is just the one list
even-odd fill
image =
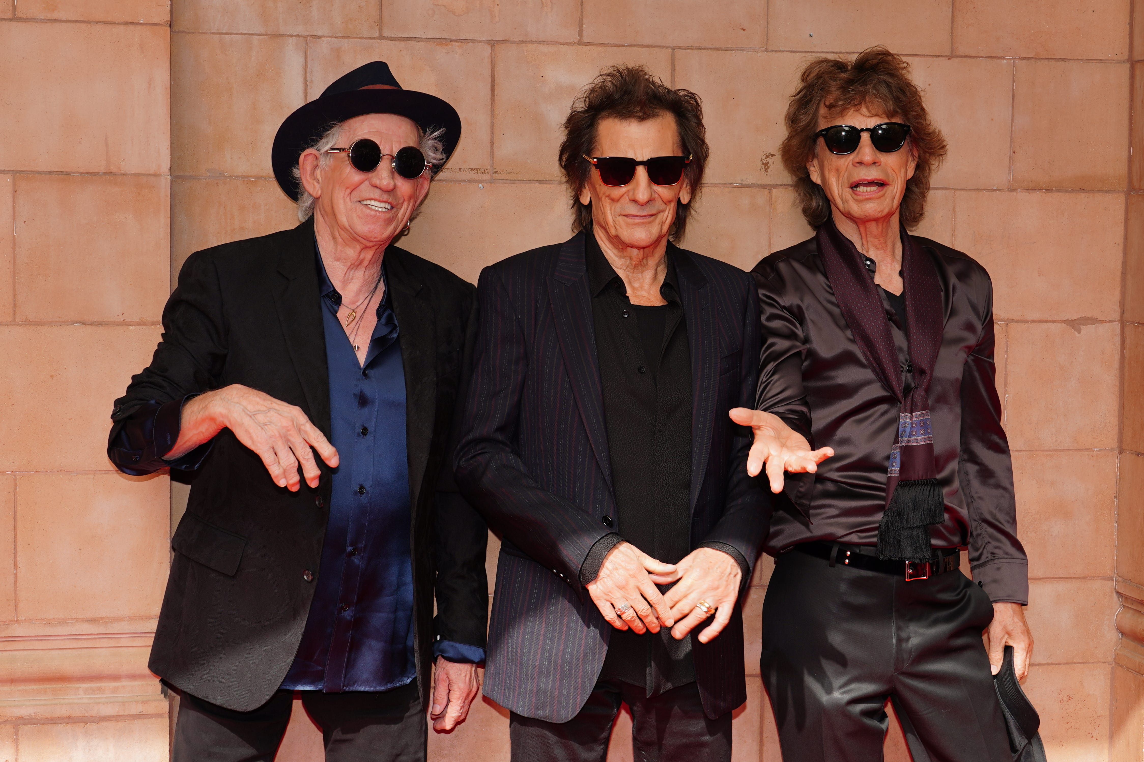
{"label": "raised drooping hand of the man in the hat", "polygon": [[337,450],[310,423],[302,409],[276,400],[241,384],[232,384],[200,394],[183,406],[178,441],[165,460],[186,455],[229,428],[239,442],[254,450],[279,487],[296,492],[302,476],[311,488],[321,472],[311,447],[331,468],[337,467]]}

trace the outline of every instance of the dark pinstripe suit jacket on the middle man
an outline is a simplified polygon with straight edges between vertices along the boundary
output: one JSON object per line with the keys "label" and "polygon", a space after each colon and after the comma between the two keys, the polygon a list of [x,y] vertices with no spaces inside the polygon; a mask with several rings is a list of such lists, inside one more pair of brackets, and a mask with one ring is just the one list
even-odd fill
{"label": "dark pinstripe suit jacket on the middle man", "polygon": [[[456,481],[501,535],[485,693],[529,717],[566,722],[596,683],[611,626],[580,584],[593,544],[613,529],[611,460],[596,360],[585,233],[480,273],[480,335]],[[670,244],[669,244],[670,246]],[[760,347],[750,278],[673,248],[692,366],[691,546],[721,542],[753,566],[770,492],[747,476]],[[614,531],[623,534],[622,516]],[[704,709],[746,698],[742,617],[709,644],[693,640]]]}

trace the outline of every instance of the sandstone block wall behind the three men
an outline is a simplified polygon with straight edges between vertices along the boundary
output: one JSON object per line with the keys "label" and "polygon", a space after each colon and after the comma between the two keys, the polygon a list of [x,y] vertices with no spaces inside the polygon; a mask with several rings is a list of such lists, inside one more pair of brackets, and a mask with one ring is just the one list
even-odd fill
{"label": "sandstone block wall behind the three men", "polygon": [[[1142,13],[1137,0],[0,0],[0,761],[166,759],[168,705],[145,661],[181,491],[114,472],[108,415],[148,362],[186,255],[295,224],[269,166],[293,109],[373,59],[454,103],[461,146],[404,246],[476,280],[567,236],[558,126],[601,67],[646,64],[705,102],[712,162],[684,244],[749,267],[810,234],[776,155],[796,70],[875,43],[908,57],[950,141],[920,233],[994,280],[1033,578],[1026,690],[1049,753],[1144,759]],[[737,760],[779,759],[757,664],[768,572],[746,605]],[[431,737],[431,757],[507,759],[506,714],[477,704]],[[907,759],[896,730],[888,749]],[[320,759],[304,714],[279,759]]]}

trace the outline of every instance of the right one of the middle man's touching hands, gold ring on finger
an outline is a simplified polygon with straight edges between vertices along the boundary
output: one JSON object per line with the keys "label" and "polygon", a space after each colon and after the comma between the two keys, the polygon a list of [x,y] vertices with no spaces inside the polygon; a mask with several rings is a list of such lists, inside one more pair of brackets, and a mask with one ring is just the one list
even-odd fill
{"label": "right one of the middle man's touching hands, gold ring on finger", "polygon": [[676,625],[672,627],[672,637],[683,640],[710,616],[710,612],[704,613],[702,609],[696,607],[696,603],[704,601],[717,609],[715,620],[699,633],[699,642],[709,643],[731,620],[734,602],[739,597],[742,569],[730,554],[712,547],[696,548],[675,567],[680,581],[666,596],[676,620]]}

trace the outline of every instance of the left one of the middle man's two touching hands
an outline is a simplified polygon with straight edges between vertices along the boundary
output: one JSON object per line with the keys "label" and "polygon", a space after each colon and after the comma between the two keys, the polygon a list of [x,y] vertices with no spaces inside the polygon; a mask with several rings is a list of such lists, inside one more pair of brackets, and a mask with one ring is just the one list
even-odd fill
{"label": "left one of the middle man's two touching hands", "polygon": [[666,585],[676,578],[670,563],[657,561],[630,543],[620,543],[604,556],[599,572],[587,587],[607,624],[617,629],[630,627],[642,635],[649,629],[658,633],[660,625],[675,624],[672,608],[656,583]]}

